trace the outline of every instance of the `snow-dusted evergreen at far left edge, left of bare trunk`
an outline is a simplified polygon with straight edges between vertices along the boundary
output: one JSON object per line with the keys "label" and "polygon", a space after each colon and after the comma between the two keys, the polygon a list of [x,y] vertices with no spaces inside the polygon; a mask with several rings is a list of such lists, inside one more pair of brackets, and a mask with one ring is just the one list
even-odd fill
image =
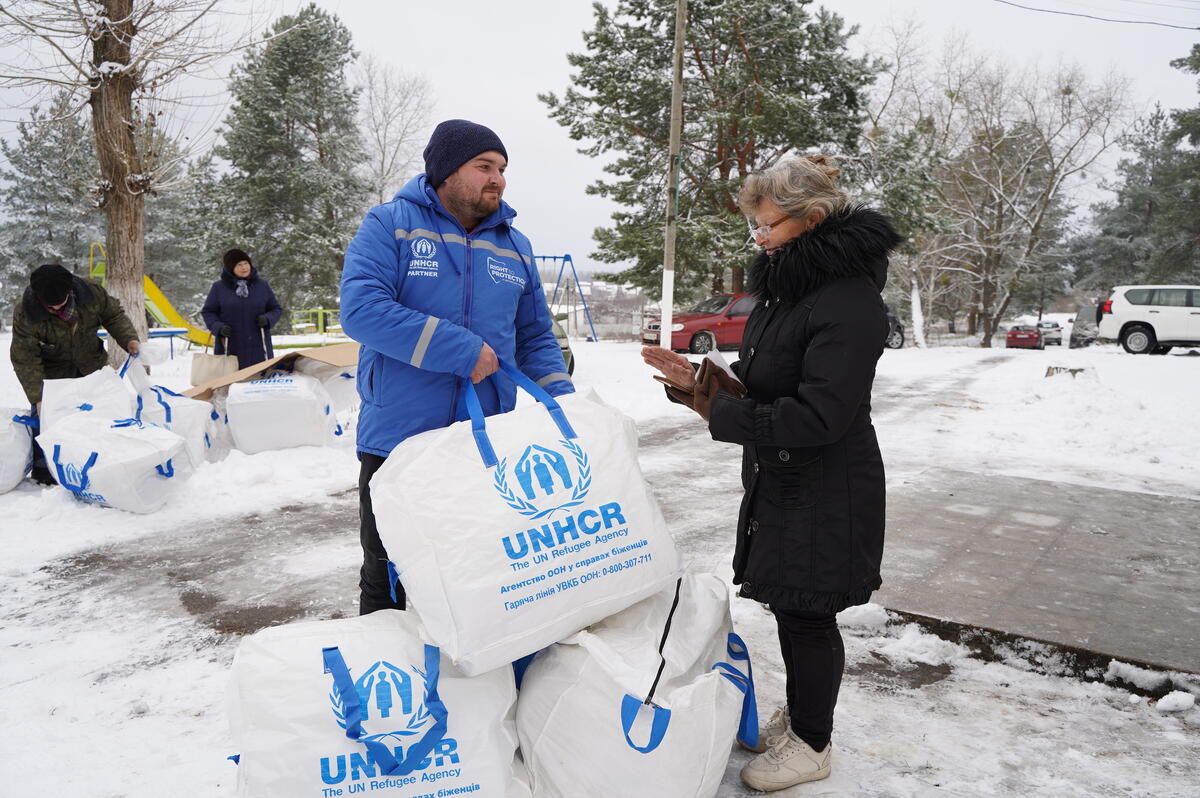
{"label": "snow-dusted evergreen at far left edge, left of bare trunk", "polygon": [[60,92],[44,109],[34,107],[17,124],[12,144],[0,140],[8,163],[0,170],[0,282],[12,301],[43,263],[86,274],[88,246],[104,239],[104,217],[90,188],[98,167],[86,120],[68,113]]}

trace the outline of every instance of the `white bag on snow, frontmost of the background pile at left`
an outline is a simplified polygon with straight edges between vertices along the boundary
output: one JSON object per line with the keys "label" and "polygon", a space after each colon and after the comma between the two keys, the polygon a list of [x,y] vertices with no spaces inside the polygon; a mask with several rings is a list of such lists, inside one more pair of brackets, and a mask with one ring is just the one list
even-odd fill
{"label": "white bag on snow, frontmost of the background pile at left", "polygon": [[158,510],[192,472],[182,438],[137,419],[76,413],[37,443],[50,474],[76,498],[128,512]]}

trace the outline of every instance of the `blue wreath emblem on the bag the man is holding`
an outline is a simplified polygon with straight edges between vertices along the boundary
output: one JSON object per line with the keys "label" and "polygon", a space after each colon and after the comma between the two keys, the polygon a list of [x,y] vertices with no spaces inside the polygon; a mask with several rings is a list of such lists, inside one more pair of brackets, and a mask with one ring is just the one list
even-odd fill
{"label": "blue wreath emblem on the bag the man is holding", "polygon": [[541,518],[583,503],[592,487],[588,455],[572,440],[559,440],[559,444],[565,452],[526,446],[512,467],[515,488],[509,484],[508,458],[499,462],[493,485],[505,504],[523,516]]}

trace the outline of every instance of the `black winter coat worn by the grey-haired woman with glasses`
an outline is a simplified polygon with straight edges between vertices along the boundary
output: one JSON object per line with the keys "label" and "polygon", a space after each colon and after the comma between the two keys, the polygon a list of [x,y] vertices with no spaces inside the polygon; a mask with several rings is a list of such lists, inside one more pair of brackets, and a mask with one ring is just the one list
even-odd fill
{"label": "black winter coat worn by the grey-haired woman with glasses", "polygon": [[848,208],[748,270],[762,300],[734,367],[748,395],[719,392],[709,431],[743,445],[733,582],[774,610],[840,612],[881,584],[871,383],[888,335],[880,292],[900,240],[887,217]]}

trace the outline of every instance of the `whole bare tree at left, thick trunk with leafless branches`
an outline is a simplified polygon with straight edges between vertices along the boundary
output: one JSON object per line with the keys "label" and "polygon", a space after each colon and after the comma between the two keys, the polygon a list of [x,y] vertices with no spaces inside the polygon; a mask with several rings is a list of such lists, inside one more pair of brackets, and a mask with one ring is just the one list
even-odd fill
{"label": "whole bare tree at left, thick trunk with leafless branches", "polygon": [[[65,89],[67,113],[90,114],[100,163],[94,188],[107,222],[108,283],[140,336],[145,266],[145,196],[167,187],[192,152],[168,132],[197,77],[248,47],[253,10],[226,0],[12,0],[0,5],[0,86],[36,96]],[[229,18],[246,31],[230,37]],[[250,24],[247,24],[250,22]],[[174,146],[163,146],[172,139]],[[158,143],[157,145],[155,143]],[[115,350],[114,350],[115,358]]]}

